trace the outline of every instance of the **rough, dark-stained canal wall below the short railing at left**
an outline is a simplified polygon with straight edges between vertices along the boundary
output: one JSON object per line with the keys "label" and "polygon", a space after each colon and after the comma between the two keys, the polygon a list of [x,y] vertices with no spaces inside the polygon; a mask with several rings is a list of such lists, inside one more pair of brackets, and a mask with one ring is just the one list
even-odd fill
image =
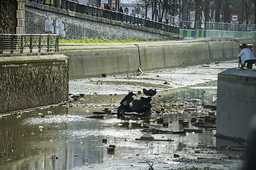
{"label": "rough, dark-stained canal wall below the short railing at left", "polygon": [[69,58],[26,55],[0,55],[0,114],[68,100]]}

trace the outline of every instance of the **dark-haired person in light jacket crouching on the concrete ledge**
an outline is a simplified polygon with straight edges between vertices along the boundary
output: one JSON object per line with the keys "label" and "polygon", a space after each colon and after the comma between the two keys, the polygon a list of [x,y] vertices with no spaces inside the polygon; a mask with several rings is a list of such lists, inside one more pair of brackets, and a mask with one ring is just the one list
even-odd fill
{"label": "dark-haired person in light jacket crouching on the concrete ledge", "polygon": [[243,68],[244,63],[247,63],[247,68],[252,68],[252,64],[256,62],[256,57],[252,54],[252,51],[248,46],[244,43],[240,47],[241,51],[237,55],[237,58],[241,59],[241,68]]}

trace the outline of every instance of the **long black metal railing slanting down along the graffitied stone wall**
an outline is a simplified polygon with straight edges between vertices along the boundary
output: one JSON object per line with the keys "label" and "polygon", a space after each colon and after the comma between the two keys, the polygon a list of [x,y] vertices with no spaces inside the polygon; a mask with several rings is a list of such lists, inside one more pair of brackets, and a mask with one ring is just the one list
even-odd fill
{"label": "long black metal railing slanting down along the graffitied stone wall", "polygon": [[[36,3],[41,3],[41,0],[29,0],[29,1],[34,1]],[[44,1],[43,1],[44,2]],[[53,7],[58,8],[57,3],[46,4],[50,5]],[[45,4],[45,3],[43,3]],[[158,29],[161,31],[165,32],[170,32],[170,33],[176,33],[179,34],[179,27],[176,25],[170,25],[154,20],[148,20],[146,18],[134,16],[134,15],[128,15],[127,13],[121,13],[117,11],[110,11],[104,8],[99,8],[99,7],[94,7],[93,5],[89,4],[81,4],[79,2],[75,2],[72,0],[61,0],[61,9],[69,10],[72,12],[77,12],[77,13],[82,13],[85,15],[91,15],[95,17],[101,17],[105,19],[110,19],[110,20],[115,20],[115,21],[121,21],[133,25],[138,25],[142,27],[147,27],[147,28],[153,28],[153,29]]]}

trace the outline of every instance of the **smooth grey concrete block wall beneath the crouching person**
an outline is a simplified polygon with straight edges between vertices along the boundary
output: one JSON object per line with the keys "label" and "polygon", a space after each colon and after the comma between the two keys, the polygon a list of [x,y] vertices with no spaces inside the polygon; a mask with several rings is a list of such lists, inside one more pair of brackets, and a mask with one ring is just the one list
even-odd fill
{"label": "smooth grey concrete block wall beneath the crouching person", "polygon": [[256,66],[230,68],[218,74],[217,134],[249,139],[249,124],[256,115]]}

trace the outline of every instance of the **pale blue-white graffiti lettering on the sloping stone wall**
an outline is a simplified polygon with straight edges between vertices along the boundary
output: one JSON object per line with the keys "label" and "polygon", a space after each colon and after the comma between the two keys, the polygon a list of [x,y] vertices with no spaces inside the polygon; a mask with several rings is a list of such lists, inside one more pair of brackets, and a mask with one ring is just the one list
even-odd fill
{"label": "pale blue-white graffiti lettering on the sloping stone wall", "polygon": [[68,24],[65,24],[60,17],[53,19],[50,15],[42,21],[42,29],[45,33],[55,33],[66,37]]}

